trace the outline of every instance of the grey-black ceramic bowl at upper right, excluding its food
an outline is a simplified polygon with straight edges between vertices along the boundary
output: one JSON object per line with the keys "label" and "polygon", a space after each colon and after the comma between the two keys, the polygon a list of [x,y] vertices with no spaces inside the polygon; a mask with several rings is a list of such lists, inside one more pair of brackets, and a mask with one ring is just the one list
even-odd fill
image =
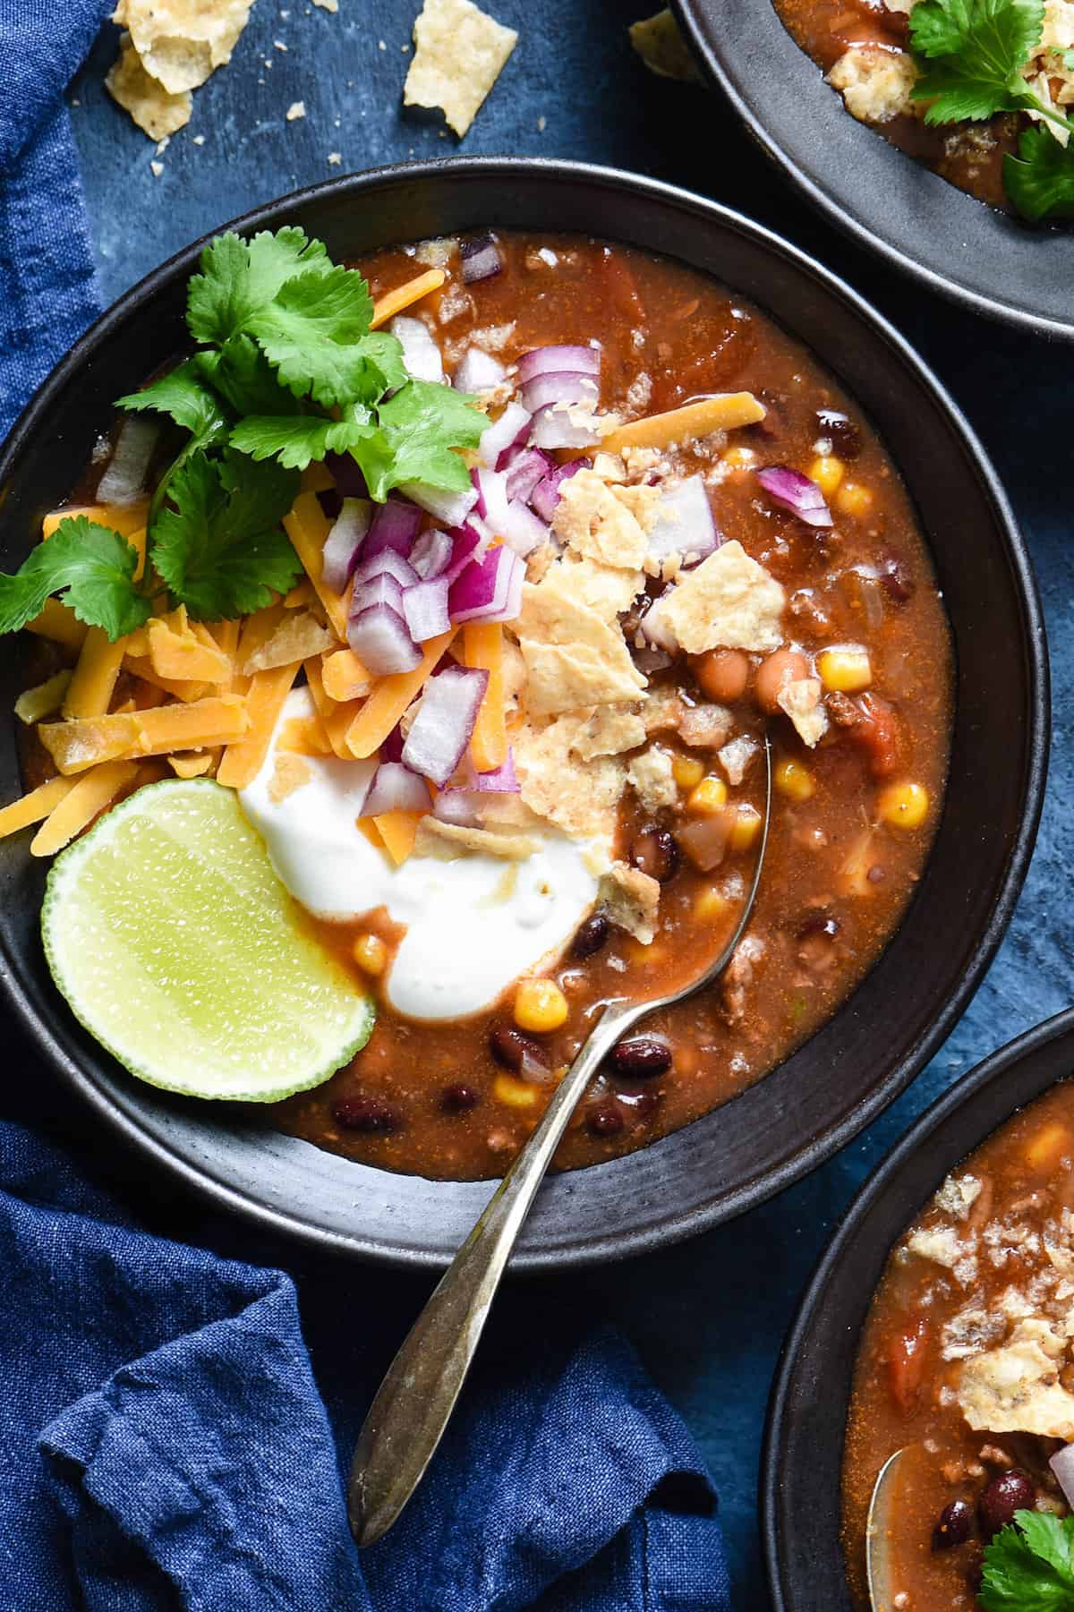
{"label": "grey-black ceramic bowl at upper right, excluding its food", "polygon": [[963,308],[1074,340],[1074,229],[974,202],[858,123],[772,0],[672,0],[708,77],[832,222]]}

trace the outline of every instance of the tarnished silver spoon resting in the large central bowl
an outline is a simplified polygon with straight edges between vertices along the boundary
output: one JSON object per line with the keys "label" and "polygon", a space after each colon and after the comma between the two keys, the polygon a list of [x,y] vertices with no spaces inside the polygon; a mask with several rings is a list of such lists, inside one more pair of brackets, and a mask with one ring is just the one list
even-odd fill
{"label": "tarnished silver spoon resting in the large central bowl", "polygon": [[414,1493],[460,1396],[500,1278],[545,1170],[579,1099],[611,1048],[645,1014],[703,990],[727,967],[753,914],[772,809],[772,753],[764,737],[764,825],[753,880],[734,935],[690,985],[653,1001],[611,1001],[556,1086],[540,1125],[489,1199],[392,1361],[369,1407],[350,1469],[347,1512],[360,1546],[376,1544]]}

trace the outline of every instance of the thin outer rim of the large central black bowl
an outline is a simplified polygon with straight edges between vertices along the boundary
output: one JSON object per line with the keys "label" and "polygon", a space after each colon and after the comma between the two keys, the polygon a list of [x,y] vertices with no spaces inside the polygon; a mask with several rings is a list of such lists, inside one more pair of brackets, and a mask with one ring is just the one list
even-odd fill
{"label": "thin outer rim of the large central black bowl", "polygon": [[[843,1148],[864,1125],[880,1114],[910,1082],[924,1069],[937,1048],[948,1037],[958,1017],[968,1006],[972,993],[980,983],[995,951],[1006,932],[1021,887],[1032,856],[1037,825],[1043,808],[1043,790],[1047,780],[1047,758],[1050,748],[1050,675],[1048,651],[1043,630],[1043,613],[1037,595],[1037,584],[1026,540],[1014,519],[1009,500],[998,480],[998,476],[980,445],[977,434],[964,418],[958,403],[947,387],[932,372],[930,366],[919,356],[911,343],[880,314],[869,301],[848,285],[839,274],[822,266],[810,253],[792,242],[784,240],[764,224],[758,224],[742,213],[718,202],[698,197],[689,190],[645,176],[631,174],[624,169],[597,166],[589,163],[558,161],[550,158],[513,158],[513,156],[464,156],[443,158],[435,163],[400,163],[366,169],[356,174],[335,176],[316,185],[310,185],[284,197],[277,197],[226,224],[218,226],[206,235],[173,253],[160,268],[144,276],[134,287],[119,297],[79,339],[71,351],[42,382],[15,422],[6,443],[0,447],[0,487],[6,482],[13,464],[18,461],[23,445],[34,432],[39,418],[50,408],[53,395],[77,374],[92,358],[94,351],[111,339],[113,327],[123,321],[134,306],[152,300],[164,282],[179,272],[189,272],[202,247],[223,229],[250,232],[258,227],[273,227],[281,211],[295,206],[313,205],[323,198],[339,198],[340,195],[361,197],[376,193],[382,185],[405,184],[410,181],[427,184],[439,176],[472,177],[479,181],[500,181],[502,184],[524,184],[534,176],[553,182],[585,182],[605,192],[621,193],[626,202],[632,197],[648,198],[658,205],[685,211],[698,224],[714,222],[721,229],[734,231],[753,242],[764,251],[774,253],[789,263],[806,280],[819,282],[821,287],[837,300],[850,306],[856,319],[869,326],[893,350],[893,358],[901,363],[918,385],[929,392],[939,408],[947,414],[951,427],[961,438],[966,456],[979,477],[984,493],[995,511],[997,534],[1001,537],[1006,561],[1011,571],[1011,587],[1019,600],[1021,637],[1026,654],[1026,687],[1029,703],[1030,735],[1024,767],[1022,814],[1018,832],[1008,848],[1003,879],[997,890],[997,898],[989,914],[989,922],[980,932],[972,956],[948,996],[943,1009],[927,1025],[924,1033],[908,1048],[906,1054],[893,1064],[887,1077],[869,1090],[855,1107],[832,1128],[822,1135],[806,1136],[801,1146],[789,1154],[764,1175],[756,1177],[732,1193],[713,1196],[705,1203],[671,1212],[660,1224],[627,1228],[626,1232],[606,1232],[593,1235],[585,1243],[560,1244],[552,1248],[521,1248],[511,1262],[516,1272],[547,1272],[577,1269],[608,1259],[619,1259],[648,1253],[700,1232],[710,1230],[724,1220],[734,1219],[743,1211],[764,1203],[785,1186],[821,1165],[826,1159]],[[776,310],[764,310],[769,318],[779,319]],[[822,359],[824,361],[824,359]],[[19,1012],[23,1024],[29,1028],[39,1051],[42,1051],[61,1078],[79,1091],[90,1103],[119,1136],[134,1146],[142,1156],[148,1156],[152,1164],[166,1169],[187,1186],[226,1209],[232,1209],[261,1227],[271,1227],[289,1236],[297,1236],[318,1248],[334,1248],[358,1257],[373,1257],[381,1262],[410,1269],[443,1269],[447,1261],[432,1249],[384,1246],[373,1238],[343,1235],[327,1227],[303,1219],[298,1207],[273,1207],[264,1198],[248,1196],[245,1191],[219,1180],[208,1167],[200,1167],[185,1154],[173,1149],[166,1141],[147,1133],[142,1124],[123,1111],[79,1064],[68,1054],[53,1033],[52,1024],[39,1014],[34,1003],[13,977],[5,948],[0,946],[0,987]],[[731,1099],[734,1101],[734,1099]],[[666,1141],[668,1138],[663,1138]],[[663,1141],[650,1146],[661,1146]],[[631,1157],[631,1156],[627,1156]],[[613,1164],[618,1161],[611,1161]],[[593,1165],[603,1169],[606,1165]],[[571,1172],[574,1180],[582,1172]],[[566,1178],[571,1178],[566,1177]],[[493,1183],[495,1185],[495,1183]],[[492,1190],[492,1188],[490,1188]]]}

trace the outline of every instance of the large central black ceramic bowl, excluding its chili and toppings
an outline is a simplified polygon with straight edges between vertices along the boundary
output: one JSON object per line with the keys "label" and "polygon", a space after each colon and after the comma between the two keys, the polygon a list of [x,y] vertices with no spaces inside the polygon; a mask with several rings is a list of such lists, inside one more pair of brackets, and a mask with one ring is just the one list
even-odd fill
{"label": "large central black ceramic bowl, excluding its chili and toppings", "polygon": [[[750,1091],[626,1159],[547,1183],[516,1265],[550,1269],[651,1248],[785,1186],[855,1135],[935,1051],[1009,919],[1037,829],[1048,743],[1043,625],[1001,488],[964,419],[906,343],[848,287],[756,224],[668,187],[600,169],[453,161],[339,179],[237,227],[302,222],[337,258],[479,226],[593,232],[718,276],[805,340],[871,413],[932,540],[958,651],[951,783],[901,930],[840,1012]],[[45,382],[0,458],[0,567],[26,555],[68,493],[111,400],[184,342],[194,245],[111,308]],[[19,690],[0,646],[0,709]],[[0,722],[0,798],[19,791]],[[390,1175],[276,1135],[256,1114],[182,1104],[129,1078],[52,987],[37,914],[40,866],[0,843],[8,993],[42,1051],[111,1125],[168,1169],[264,1224],[398,1264],[445,1262],[487,1183]]]}

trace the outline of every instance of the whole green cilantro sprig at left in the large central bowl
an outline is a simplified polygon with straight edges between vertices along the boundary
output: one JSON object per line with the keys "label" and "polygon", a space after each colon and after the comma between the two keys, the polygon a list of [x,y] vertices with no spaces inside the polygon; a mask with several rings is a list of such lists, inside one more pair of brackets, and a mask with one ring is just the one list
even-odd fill
{"label": "whole green cilantro sprig at left in the large central bowl", "polygon": [[400,342],[371,321],[364,277],[302,229],[210,242],[187,292],[195,351],[118,400],[182,432],[150,501],[144,579],[118,532],[69,517],[15,575],[0,574],[0,632],[53,593],[113,642],[160,593],[195,621],[260,609],[302,571],[281,521],[298,472],[329,453],[353,455],[377,501],[403,484],[464,490],[456,450],[476,445],[484,414],[411,379]]}

